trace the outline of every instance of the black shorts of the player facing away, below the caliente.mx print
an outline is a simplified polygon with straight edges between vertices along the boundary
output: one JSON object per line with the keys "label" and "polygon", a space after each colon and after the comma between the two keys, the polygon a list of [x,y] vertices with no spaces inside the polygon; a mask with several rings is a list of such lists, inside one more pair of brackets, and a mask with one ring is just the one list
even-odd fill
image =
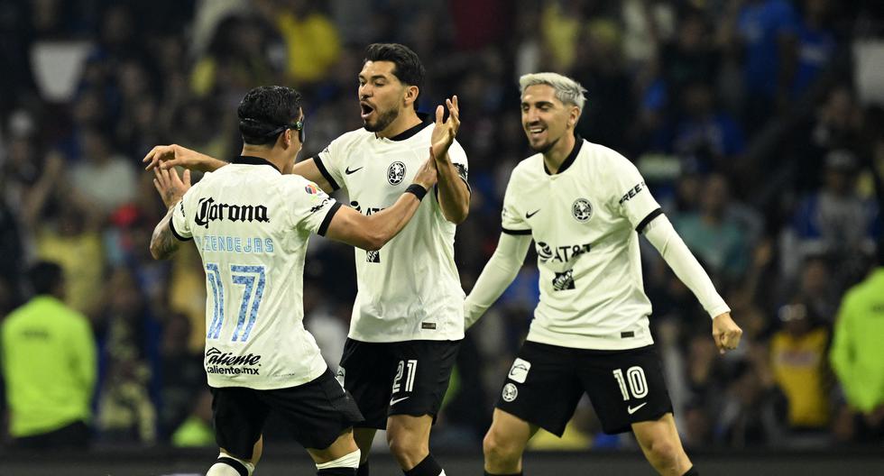
{"label": "black shorts of the player facing away, below the caliente.mx print", "polygon": [[325,449],[362,414],[355,401],[326,370],[317,379],[287,389],[211,388],[212,417],[218,446],[237,458],[251,459],[264,421],[276,411],[299,444]]}

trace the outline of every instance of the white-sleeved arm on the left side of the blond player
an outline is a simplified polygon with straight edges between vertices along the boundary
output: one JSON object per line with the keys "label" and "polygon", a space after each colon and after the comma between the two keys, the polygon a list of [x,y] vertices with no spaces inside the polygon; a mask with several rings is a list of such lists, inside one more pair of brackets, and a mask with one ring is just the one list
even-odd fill
{"label": "white-sleeved arm on the left side of the blond player", "polygon": [[469,328],[474,325],[488,307],[501,297],[503,291],[510,286],[516,275],[519,274],[528,247],[531,244],[529,234],[501,233],[501,239],[497,243],[497,249],[491,260],[485,264],[479,279],[476,279],[473,291],[466,297],[464,303],[464,325]]}

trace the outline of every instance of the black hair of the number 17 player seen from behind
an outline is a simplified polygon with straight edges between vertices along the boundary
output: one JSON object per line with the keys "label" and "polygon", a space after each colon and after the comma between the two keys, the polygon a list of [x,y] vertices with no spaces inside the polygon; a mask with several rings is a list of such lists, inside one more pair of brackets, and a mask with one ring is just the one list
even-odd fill
{"label": "black hair of the number 17 player seen from behind", "polygon": [[243,142],[266,145],[299,119],[301,95],[291,87],[261,86],[246,93],[236,108]]}

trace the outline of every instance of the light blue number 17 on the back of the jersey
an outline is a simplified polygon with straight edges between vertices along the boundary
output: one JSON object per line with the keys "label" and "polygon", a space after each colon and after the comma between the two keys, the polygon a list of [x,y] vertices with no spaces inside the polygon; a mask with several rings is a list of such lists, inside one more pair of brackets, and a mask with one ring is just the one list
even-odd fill
{"label": "light blue number 17 on the back of the jersey", "polygon": [[[239,306],[239,318],[236,320],[232,342],[245,342],[252,332],[255,319],[258,317],[258,307],[261,306],[261,298],[264,294],[266,282],[263,266],[244,266],[240,264],[230,265],[230,282],[244,286],[243,302]],[[221,279],[221,270],[217,263],[206,263],[206,279],[212,287],[212,295],[215,305],[212,308],[212,323],[208,326],[207,339],[217,339],[221,335],[221,325],[224,324],[224,280]],[[249,302],[252,307],[249,307]],[[248,322],[245,317],[248,315]]]}

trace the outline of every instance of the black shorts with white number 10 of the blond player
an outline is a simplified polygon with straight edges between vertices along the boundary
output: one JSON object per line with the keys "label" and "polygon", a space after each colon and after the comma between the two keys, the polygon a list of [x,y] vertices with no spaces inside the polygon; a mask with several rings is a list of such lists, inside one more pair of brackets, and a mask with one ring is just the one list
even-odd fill
{"label": "black shorts with white number 10 of the blond player", "polygon": [[607,434],[672,412],[653,345],[593,351],[530,341],[512,363],[496,407],[561,436],[584,393]]}

